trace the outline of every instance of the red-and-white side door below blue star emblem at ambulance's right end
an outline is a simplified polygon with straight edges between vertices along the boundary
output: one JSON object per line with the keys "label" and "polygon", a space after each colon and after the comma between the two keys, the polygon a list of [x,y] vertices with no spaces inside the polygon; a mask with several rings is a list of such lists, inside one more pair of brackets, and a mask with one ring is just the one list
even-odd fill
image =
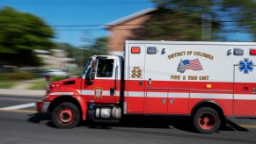
{"label": "red-and-white side door below blue star emblem at ambulance's right end", "polygon": [[[256,62],[256,61],[255,61]],[[256,115],[256,69],[253,61],[243,59],[234,66],[233,113],[237,116]]]}

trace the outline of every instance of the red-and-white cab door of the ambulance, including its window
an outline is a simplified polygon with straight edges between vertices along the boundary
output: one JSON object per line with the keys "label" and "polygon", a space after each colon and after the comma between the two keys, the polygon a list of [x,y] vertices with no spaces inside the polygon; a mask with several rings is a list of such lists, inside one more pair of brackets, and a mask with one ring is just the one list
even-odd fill
{"label": "red-and-white cab door of the ambulance, including its window", "polygon": [[[98,56],[91,61],[82,95],[94,103],[116,103],[120,97],[119,64],[116,56]],[[91,78],[88,78],[91,77]]]}

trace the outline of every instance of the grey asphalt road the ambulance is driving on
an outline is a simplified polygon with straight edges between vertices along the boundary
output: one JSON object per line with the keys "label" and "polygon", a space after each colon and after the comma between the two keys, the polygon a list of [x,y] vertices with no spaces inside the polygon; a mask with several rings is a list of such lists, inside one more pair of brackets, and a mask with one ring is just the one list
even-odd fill
{"label": "grey asphalt road the ambulance is driving on", "polygon": [[35,112],[40,97],[0,97],[0,143],[18,144],[162,144],[256,143],[256,119],[229,118],[228,126],[213,134],[194,132],[187,118],[135,117],[112,126],[57,129],[49,114]]}

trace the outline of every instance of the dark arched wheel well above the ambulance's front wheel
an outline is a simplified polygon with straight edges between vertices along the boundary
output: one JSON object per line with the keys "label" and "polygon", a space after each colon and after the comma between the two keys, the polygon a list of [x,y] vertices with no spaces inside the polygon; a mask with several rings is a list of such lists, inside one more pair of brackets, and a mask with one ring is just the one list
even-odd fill
{"label": "dark arched wheel well above the ambulance's front wheel", "polygon": [[82,108],[81,108],[80,104],[77,102],[77,99],[74,98],[74,97],[70,97],[70,96],[61,96],[61,97],[55,98],[55,100],[51,102],[51,104],[48,108],[48,111],[53,112],[55,107],[58,104],[62,104],[62,103],[65,103],[65,102],[75,104],[77,106],[79,112],[82,113]]}

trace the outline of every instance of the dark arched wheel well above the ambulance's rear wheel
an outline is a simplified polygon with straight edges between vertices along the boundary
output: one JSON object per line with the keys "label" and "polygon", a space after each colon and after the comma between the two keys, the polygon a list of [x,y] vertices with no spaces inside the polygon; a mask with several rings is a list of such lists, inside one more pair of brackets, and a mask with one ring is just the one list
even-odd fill
{"label": "dark arched wheel well above the ambulance's rear wheel", "polygon": [[210,107],[214,109],[220,116],[221,119],[224,119],[223,109],[219,104],[216,104],[214,101],[202,101],[199,104],[196,104],[191,112],[191,116],[194,117],[195,112],[201,107]]}

